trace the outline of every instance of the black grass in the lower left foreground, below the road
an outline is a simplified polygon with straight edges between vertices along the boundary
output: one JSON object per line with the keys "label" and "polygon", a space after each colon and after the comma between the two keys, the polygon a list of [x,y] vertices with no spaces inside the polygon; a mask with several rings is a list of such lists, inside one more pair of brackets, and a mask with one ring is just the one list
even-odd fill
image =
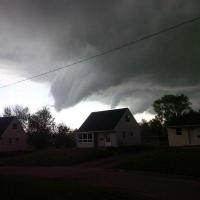
{"label": "black grass in the lower left foreground, below the road", "polygon": [[3,200],[133,200],[125,193],[69,181],[28,177],[0,177]]}

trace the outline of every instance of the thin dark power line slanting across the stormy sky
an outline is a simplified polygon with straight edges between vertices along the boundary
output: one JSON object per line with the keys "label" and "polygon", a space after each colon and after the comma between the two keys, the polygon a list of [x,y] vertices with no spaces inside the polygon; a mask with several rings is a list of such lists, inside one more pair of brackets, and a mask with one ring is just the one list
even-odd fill
{"label": "thin dark power line slanting across the stormy sky", "polygon": [[77,65],[77,64],[80,64],[80,63],[83,63],[83,62],[92,60],[92,59],[94,59],[94,58],[101,57],[101,56],[106,55],[106,54],[110,54],[110,53],[112,53],[112,52],[114,52],[114,51],[118,51],[118,50],[120,50],[120,49],[122,49],[122,48],[125,48],[125,47],[127,47],[127,46],[135,45],[135,44],[137,44],[137,43],[139,43],[139,42],[142,42],[142,41],[144,41],[144,40],[148,40],[148,39],[154,38],[154,37],[156,37],[156,36],[158,36],[158,35],[164,34],[164,33],[166,33],[166,32],[170,32],[170,31],[172,31],[172,30],[174,30],[174,29],[177,29],[177,28],[179,28],[179,27],[182,27],[182,26],[187,25],[187,24],[190,24],[190,23],[197,22],[197,21],[199,21],[199,20],[200,20],[200,16],[199,16],[199,17],[196,17],[196,18],[192,18],[192,19],[186,20],[186,21],[183,21],[183,22],[181,22],[181,23],[179,23],[179,24],[176,24],[176,25],[167,27],[167,28],[162,29],[162,30],[160,30],[160,31],[158,31],[158,32],[155,32],[155,33],[151,33],[151,34],[142,36],[142,37],[140,37],[140,38],[138,38],[138,39],[136,39],[136,40],[132,40],[132,41],[127,42],[127,43],[125,43],[125,44],[122,44],[122,45],[120,45],[120,46],[117,46],[117,47],[111,48],[111,49],[109,49],[109,50],[103,51],[103,52],[101,52],[101,53],[99,53],[99,54],[96,54],[96,55],[94,55],[94,56],[90,56],[90,57],[88,57],[88,58],[80,59],[80,60],[75,61],[75,62],[73,62],[73,63],[71,63],[71,64],[68,64],[68,65],[66,65],[66,66],[57,67],[57,68],[55,68],[55,69],[53,69],[53,70],[49,70],[49,71],[46,71],[46,72],[41,73],[41,74],[37,74],[37,75],[31,76],[31,77],[28,77],[28,78],[25,78],[25,79],[22,79],[22,80],[19,80],[19,81],[16,81],[16,82],[12,82],[12,83],[9,83],[9,84],[6,84],[6,85],[2,85],[2,86],[0,86],[0,89],[6,88],[6,87],[10,87],[10,86],[13,86],[13,85],[17,85],[17,84],[19,84],[19,83],[22,83],[22,82],[25,82],[25,81],[28,81],[28,80],[32,80],[32,79],[35,79],[35,78],[38,78],[38,77],[45,76],[45,75],[50,74],[50,73],[54,73],[54,72],[59,71],[59,70],[62,70],[62,69],[69,68],[69,67],[71,67],[71,66],[73,66],[73,65]]}

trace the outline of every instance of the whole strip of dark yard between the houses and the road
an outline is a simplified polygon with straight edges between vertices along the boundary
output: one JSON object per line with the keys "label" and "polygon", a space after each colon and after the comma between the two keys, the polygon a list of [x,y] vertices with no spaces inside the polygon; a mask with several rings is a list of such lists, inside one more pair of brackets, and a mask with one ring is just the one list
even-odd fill
{"label": "whole strip of dark yard between the houses and the road", "polygon": [[[115,170],[138,170],[199,179],[199,156],[200,148],[49,149],[0,158],[0,166],[72,166],[97,160],[92,167],[103,168],[109,162]],[[87,166],[90,167],[90,162]]]}

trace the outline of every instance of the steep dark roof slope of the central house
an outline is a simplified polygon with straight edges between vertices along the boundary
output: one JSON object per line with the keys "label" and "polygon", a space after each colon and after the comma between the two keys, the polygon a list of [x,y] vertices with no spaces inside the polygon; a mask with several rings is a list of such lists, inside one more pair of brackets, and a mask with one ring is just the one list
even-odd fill
{"label": "steep dark roof slope of the central house", "polygon": [[113,130],[128,108],[92,112],[78,132]]}

